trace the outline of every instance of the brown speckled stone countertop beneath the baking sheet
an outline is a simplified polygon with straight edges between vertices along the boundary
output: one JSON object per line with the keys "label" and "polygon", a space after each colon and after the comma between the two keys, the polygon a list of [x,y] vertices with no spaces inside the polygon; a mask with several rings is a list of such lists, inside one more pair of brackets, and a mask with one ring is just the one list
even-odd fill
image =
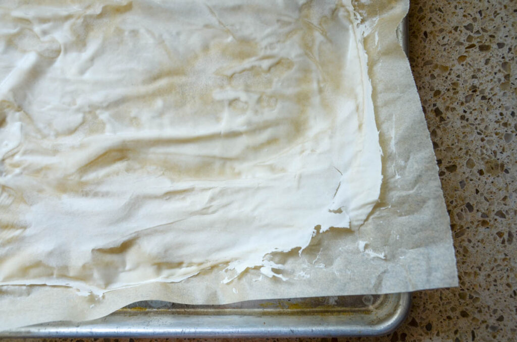
{"label": "brown speckled stone countertop beneath the baking sheet", "polygon": [[460,287],[414,293],[409,317],[388,336],[343,340],[517,340],[515,32],[514,0],[411,0],[409,60],[450,212]]}

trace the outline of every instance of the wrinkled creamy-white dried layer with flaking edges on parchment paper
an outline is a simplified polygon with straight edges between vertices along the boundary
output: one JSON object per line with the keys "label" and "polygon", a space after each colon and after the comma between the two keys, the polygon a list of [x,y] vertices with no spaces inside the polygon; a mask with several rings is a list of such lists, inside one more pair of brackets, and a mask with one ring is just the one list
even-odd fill
{"label": "wrinkled creamy-white dried layer with flaking edges on parchment paper", "polygon": [[358,229],[382,181],[358,22],[349,1],[0,7],[0,285],[284,279],[272,253]]}

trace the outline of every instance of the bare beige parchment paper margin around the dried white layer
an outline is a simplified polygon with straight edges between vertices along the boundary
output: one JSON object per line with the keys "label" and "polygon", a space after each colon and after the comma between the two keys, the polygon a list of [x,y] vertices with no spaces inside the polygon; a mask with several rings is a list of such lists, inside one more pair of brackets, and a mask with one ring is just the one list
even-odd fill
{"label": "bare beige parchment paper margin around the dried white layer", "polygon": [[254,299],[405,292],[457,286],[449,217],[429,131],[396,29],[407,0],[354,1],[368,27],[364,45],[379,139],[383,185],[379,203],[358,231],[316,235],[301,257],[272,255],[288,279],[249,270],[221,284],[216,270],[180,283],[152,283],[80,297],[59,286],[0,288],[0,330],[53,320],[88,320],[131,302],[222,304]]}

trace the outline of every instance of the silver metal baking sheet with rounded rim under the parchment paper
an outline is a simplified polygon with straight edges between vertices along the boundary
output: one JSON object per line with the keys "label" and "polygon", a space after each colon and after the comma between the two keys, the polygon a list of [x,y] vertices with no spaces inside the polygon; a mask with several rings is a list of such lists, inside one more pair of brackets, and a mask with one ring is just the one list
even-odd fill
{"label": "silver metal baking sheet with rounded rim under the parchment paper", "polygon": [[[397,37],[408,52],[407,17]],[[86,322],[50,322],[0,337],[338,337],[389,334],[405,319],[410,293],[186,305],[144,301]]]}

